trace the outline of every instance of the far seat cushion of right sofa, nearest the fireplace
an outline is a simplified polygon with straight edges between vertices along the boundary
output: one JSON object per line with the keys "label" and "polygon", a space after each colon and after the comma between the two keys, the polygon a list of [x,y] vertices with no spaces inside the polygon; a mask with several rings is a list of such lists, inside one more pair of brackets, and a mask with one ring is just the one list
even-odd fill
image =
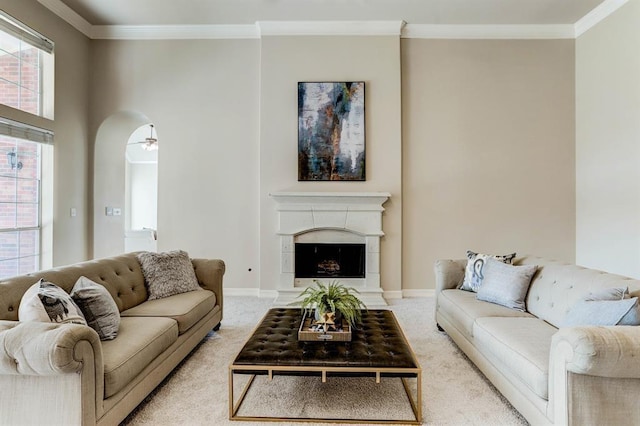
{"label": "far seat cushion of right sofa, nearest the fireplace", "polygon": [[455,289],[438,294],[437,309],[467,338],[473,337],[473,323],[477,318],[532,317],[527,312],[477,300],[475,293]]}

